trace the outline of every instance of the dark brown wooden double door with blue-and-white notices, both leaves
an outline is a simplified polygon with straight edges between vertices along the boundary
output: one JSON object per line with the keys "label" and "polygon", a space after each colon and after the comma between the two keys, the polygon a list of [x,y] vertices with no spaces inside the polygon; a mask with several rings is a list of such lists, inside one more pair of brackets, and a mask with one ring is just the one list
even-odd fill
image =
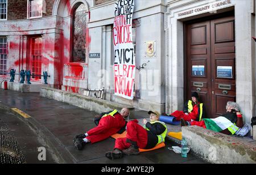
{"label": "dark brown wooden double door with blue-and-white notices, both leaves", "polygon": [[236,100],[234,17],[190,23],[186,32],[187,99],[196,91],[207,117],[220,116]]}

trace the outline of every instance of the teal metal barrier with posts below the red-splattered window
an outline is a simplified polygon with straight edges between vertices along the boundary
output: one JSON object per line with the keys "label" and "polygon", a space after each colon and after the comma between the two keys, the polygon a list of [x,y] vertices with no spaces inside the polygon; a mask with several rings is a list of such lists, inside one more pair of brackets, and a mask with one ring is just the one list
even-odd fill
{"label": "teal metal barrier with posts below the red-splattered window", "polygon": [[25,76],[27,77],[27,84],[31,84],[30,82],[30,78],[31,76],[43,76],[44,77],[44,84],[48,84],[47,83],[47,78],[50,77],[50,75],[48,75],[47,71],[44,71],[43,72],[43,75],[36,75],[36,74],[31,74],[31,71],[30,70],[20,70],[20,73],[19,74],[16,74],[15,73],[16,70],[14,69],[11,69],[10,72],[0,72],[0,74],[10,74],[10,82],[14,82],[14,79],[15,79],[15,75],[20,75],[20,82],[19,83],[24,83],[25,82]]}

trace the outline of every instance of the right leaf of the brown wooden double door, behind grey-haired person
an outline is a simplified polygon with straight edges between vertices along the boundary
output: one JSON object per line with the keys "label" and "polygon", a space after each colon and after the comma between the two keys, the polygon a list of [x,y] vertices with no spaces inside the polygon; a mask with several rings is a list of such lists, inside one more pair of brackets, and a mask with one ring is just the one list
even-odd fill
{"label": "right leaf of the brown wooden double door, behind grey-haired person", "polygon": [[[236,101],[234,17],[210,22],[212,47],[212,116],[225,113],[227,101]],[[222,69],[220,69],[222,67]]]}

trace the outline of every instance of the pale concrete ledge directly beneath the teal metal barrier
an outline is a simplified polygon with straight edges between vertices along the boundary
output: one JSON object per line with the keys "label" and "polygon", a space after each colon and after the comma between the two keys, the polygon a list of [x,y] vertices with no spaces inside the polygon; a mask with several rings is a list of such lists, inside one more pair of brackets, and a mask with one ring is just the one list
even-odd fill
{"label": "pale concrete ledge directly beneath the teal metal barrier", "polygon": [[50,84],[22,84],[16,82],[8,82],[8,89],[18,92],[40,92],[40,87],[51,87]]}

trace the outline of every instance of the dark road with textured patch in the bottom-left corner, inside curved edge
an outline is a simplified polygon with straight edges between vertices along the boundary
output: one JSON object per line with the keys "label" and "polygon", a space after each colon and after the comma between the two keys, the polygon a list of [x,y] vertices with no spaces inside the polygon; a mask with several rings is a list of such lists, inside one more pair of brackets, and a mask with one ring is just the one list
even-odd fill
{"label": "dark road with textured patch in the bottom-left corner, inside curved edge", "polygon": [[[0,163],[7,164],[54,164],[58,163],[52,151],[46,152],[46,160],[39,160],[38,148],[47,147],[31,127],[14,114],[0,109]],[[52,154],[54,155],[54,153]]]}

